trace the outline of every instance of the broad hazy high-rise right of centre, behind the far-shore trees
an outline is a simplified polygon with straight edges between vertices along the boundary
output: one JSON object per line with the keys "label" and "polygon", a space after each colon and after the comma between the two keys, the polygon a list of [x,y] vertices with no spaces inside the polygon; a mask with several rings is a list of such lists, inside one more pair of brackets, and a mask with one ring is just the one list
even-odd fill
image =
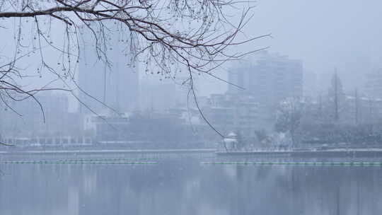
{"label": "broad hazy high-rise right of centre, behind the far-shore trees", "polygon": [[303,95],[303,64],[298,59],[261,52],[230,71],[228,80],[245,88],[230,85],[228,93],[248,93],[256,102],[274,106],[284,98]]}

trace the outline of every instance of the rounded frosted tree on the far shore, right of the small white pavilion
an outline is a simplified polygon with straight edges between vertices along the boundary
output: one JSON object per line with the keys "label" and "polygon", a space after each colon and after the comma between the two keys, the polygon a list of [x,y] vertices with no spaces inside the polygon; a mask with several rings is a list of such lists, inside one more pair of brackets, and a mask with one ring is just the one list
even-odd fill
{"label": "rounded frosted tree on the far shore, right of the small white pavilion", "polygon": [[282,100],[277,109],[277,120],[274,124],[276,132],[289,133],[292,146],[296,144],[296,132],[299,129],[303,110],[303,103],[298,98]]}

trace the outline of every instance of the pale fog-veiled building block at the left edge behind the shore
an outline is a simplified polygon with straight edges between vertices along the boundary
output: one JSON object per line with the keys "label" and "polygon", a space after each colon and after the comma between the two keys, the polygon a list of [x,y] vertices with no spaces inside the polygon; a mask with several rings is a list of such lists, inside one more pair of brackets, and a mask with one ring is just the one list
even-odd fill
{"label": "pale fog-veiled building block at the left edge behind the shore", "polygon": [[[72,133],[78,123],[70,124],[68,98],[64,94],[40,92],[10,103],[12,110],[0,110],[0,134],[8,137],[62,136]],[[74,122],[71,120],[71,122]],[[70,126],[69,126],[70,124]],[[78,130],[78,128],[76,128]]]}

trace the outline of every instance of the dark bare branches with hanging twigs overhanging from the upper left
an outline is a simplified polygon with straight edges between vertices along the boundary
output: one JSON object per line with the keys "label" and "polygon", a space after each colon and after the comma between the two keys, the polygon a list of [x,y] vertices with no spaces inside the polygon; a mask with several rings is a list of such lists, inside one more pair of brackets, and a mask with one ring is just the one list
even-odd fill
{"label": "dark bare branches with hanging twigs overhanging from the upper left", "polygon": [[[233,52],[231,47],[270,36],[238,37],[251,18],[252,4],[234,0],[1,1],[0,30],[12,28],[15,42],[13,53],[0,53],[1,102],[10,109],[9,100],[32,97],[38,103],[35,93],[57,89],[69,91],[79,100],[73,90],[82,91],[76,84],[76,70],[84,31],[91,32],[98,60],[107,66],[112,64],[107,54],[110,35],[117,33],[126,44],[127,62],[143,62],[147,74],[175,79],[176,74],[187,73],[184,84],[190,86],[196,100],[195,75],[225,81],[212,71],[256,51]],[[236,23],[230,16],[232,11],[240,12]],[[115,25],[116,30],[110,25]],[[52,32],[57,29],[62,34],[56,41]],[[47,59],[47,50],[56,52],[58,59],[54,63]],[[21,62],[30,55],[38,57],[37,68],[23,67]],[[21,79],[45,74],[54,77],[45,86],[30,88],[21,83]],[[62,88],[52,88],[54,81],[61,81]]]}

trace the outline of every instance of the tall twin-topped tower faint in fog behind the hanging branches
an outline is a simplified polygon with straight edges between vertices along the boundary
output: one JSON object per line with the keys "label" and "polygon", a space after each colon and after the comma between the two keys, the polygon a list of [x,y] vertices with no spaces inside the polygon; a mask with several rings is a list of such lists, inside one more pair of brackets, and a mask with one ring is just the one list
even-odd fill
{"label": "tall twin-topped tower faint in fog behind the hanging branches", "polygon": [[129,112],[139,108],[139,75],[132,64],[129,37],[122,37],[118,30],[105,35],[108,50],[107,64],[100,62],[93,33],[83,34],[82,59],[79,66],[80,112]]}

